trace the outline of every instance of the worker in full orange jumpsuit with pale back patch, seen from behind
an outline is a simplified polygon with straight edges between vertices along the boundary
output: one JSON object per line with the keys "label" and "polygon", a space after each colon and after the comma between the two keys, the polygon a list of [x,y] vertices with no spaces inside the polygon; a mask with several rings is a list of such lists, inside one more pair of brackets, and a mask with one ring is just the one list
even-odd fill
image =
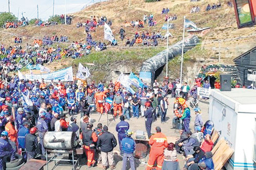
{"label": "worker in full orange jumpsuit with pale back patch, seen from behind", "polygon": [[150,137],[149,144],[151,149],[147,170],[153,168],[155,161],[157,162],[156,170],[161,170],[163,164],[163,150],[168,146],[168,143],[167,137],[161,133],[160,127],[156,127],[156,134]]}

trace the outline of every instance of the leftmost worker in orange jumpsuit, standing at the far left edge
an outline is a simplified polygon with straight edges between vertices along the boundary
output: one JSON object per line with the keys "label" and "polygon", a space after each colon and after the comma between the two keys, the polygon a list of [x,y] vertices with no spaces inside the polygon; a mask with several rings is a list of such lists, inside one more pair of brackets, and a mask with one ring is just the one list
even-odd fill
{"label": "leftmost worker in orange jumpsuit, standing at the far left edge", "polygon": [[11,147],[13,147],[14,150],[17,149],[17,134],[18,131],[15,129],[14,126],[14,119],[13,116],[9,116],[7,117],[8,123],[5,125],[5,130],[8,132],[9,134],[9,139],[10,139],[10,144]]}

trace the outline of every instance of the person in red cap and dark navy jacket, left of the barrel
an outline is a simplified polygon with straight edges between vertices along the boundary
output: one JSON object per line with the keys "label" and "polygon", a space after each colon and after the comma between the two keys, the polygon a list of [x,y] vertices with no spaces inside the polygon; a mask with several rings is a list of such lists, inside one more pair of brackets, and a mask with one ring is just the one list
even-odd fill
{"label": "person in red cap and dark navy jacket, left of the barrel", "polygon": [[27,161],[35,158],[36,149],[38,148],[38,137],[36,137],[35,133],[38,131],[36,127],[31,128],[29,130],[29,134],[25,136],[25,148],[27,152]]}

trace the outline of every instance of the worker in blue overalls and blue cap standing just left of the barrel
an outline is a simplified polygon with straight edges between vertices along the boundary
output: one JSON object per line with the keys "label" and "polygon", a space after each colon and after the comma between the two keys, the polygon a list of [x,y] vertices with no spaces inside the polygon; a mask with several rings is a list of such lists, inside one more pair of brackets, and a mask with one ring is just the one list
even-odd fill
{"label": "worker in blue overalls and blue cap standing just left of the barrel", "polygon": [[42,155],[45,156],[46,152],[45,152],[45,147],[44,147],[44,142],[43,142],[43,138],[44,138],[44,134],[46,131],[48,131],[48,125],[45,122],[45,112],[41,112],[40,119],[38,121],[38,124],[36,125],[36,128],[38,129],[38,135],[40,138],[40,144],[41,144],[41,148],[42,148]]}

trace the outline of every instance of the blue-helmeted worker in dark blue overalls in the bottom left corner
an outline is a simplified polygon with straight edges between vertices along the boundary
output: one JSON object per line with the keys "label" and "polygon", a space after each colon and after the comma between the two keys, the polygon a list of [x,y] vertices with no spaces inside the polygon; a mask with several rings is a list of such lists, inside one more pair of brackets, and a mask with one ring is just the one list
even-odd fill
{"label": "blue-helmeted worker in dark blue overalls in the bottom left corner", "polygon": [[6,169],[6,165],[4,162],[4,157],[6,156],[11,156],[11,163],[12,162],[17,162],[18,160],[15,159],[15,150],[13,147],[11,147],[11,144],[8,142],[8,132],[3,131],[1,133],[0,137],[0,169]]}

